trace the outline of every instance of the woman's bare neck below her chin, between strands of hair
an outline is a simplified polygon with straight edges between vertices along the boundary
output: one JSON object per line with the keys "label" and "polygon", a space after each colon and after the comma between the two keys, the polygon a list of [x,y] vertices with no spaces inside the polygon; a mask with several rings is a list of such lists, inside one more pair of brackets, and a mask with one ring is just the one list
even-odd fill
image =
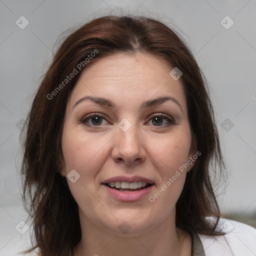
{"label": "woman's bare neck below her chin, between strands of hair", "polygon": [[82,236],[74,248],[74,256],[191,255],[191,237],[175,226],[175,215],[139,235],[110,233],[86,218],[80,218],[80,224]]}

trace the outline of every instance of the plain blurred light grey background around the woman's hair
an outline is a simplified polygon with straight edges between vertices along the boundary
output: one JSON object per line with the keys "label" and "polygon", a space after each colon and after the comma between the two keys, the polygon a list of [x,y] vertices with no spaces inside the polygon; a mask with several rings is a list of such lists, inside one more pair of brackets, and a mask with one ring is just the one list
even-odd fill
{"label": "plain blurred light grey background around the woman's hair", "polygon": [[[229,175],[218,190],[220,208],[237,220],[255,214],[255,10],[255,0],[0,0],[0,256],[17,255],[29,242],[28,231],[15,229],[26,219],[18,175],[22,118],[58,36],[95,15],[136,13],[176,26],[211,86]],[[24,29],[15,23],[22,15],[29,21]],[[234,21],[228,29],[222,24],[230,20],[221,23],[226,15]]]}

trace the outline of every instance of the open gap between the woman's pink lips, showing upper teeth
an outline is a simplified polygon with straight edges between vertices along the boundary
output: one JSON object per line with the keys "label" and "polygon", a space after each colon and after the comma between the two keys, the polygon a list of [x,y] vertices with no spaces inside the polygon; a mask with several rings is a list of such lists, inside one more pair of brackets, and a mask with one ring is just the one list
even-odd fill
{"label": "open gap between the woman's pink lips, showing upper teeth", "polygon": [[109,183],[102,183],[102,184],[118,191],[132,192],[132,191],[145,189],[149,186],[152,186],[154,183],[148,183],[144,181],[137,181],[137,182],[116,181],[116,182],[109,182]]}

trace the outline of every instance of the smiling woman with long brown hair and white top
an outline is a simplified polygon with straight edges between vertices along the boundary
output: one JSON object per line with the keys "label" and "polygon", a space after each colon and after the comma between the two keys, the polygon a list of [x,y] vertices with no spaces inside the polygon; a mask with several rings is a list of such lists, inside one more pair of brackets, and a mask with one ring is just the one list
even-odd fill
{"label": "smiling woman with long brown hair and white top", "polygon": [[220,218],[210,175],[223,161],[205,86],[185,42],[157,20],[104,16],[69,35],[27,118],[26,252],[255,252],[255,229]]}

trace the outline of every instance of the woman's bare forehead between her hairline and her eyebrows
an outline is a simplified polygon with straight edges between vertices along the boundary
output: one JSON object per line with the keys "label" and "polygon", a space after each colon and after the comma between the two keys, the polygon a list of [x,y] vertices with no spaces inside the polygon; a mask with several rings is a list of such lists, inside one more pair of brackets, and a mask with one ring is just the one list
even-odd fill
{"label": "woman's bare forehead between her hairline and her eyebrows", "polygon": [[169,75],[172,68],[166,60],[152,54],[118,53],[102,57],[82,71],[69,102],[73,105],[80,97],[92,95],[112,99],[117,104],[129,99],[131,104],[170,95],[186,109],[181,79],[174,80]]}

